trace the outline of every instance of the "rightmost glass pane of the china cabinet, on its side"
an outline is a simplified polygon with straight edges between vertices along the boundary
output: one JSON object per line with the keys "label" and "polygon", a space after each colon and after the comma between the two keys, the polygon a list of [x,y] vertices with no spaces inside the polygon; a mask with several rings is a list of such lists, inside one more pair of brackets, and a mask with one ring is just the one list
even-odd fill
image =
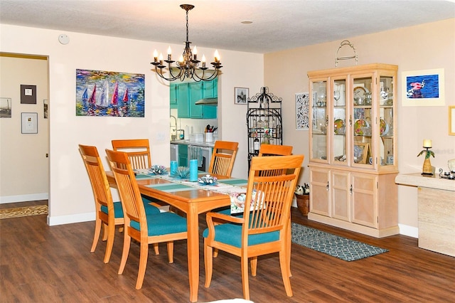
{"label": "rightmost glass pane of the china cabinet, on its side", "polygon": [[381,166],[394,165],[393,78],[380,76],[379,87],[379,160]]}

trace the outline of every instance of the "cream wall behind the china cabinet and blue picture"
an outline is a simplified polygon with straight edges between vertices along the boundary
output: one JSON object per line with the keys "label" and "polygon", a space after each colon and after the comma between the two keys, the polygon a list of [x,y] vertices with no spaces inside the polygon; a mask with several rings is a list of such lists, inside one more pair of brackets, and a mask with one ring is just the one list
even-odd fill
{"label": "cream wall behind the china cabinet and blue picture", "polygon": [[[398,28],[365,36],[346,37],[357,50],[358,64],[398,65],[398,169],[401,174],[422,172],[424,157],[417,157],[423,139],[432,139],[435,158],[432,165],[447,171],[447,161],[455,158],[455,136],[449,136],[448,106],[455,105],[455,19]],[[344,40],[344,39],[343,39]],[[307,131],[295,130],[295,93],[308,92],[309,70],[335,68],[336,50],[342,40],[294,48],[264,55],[264,83],[275,95],[283,97],[284,144],[294,153],[305,154],[300,182],[309,182]],[[344,50],[344,49],[343,49]],[[352,55],[352,52],[348,52]],[[291,68],[277,68],[290,65]],[[340,61],[338,67],[355,65],[355,60]],[[445,105],[403,107],[401,73],[412,70],[444,68]],[[416,236],[417,188],[398,187],[400,233]]]}

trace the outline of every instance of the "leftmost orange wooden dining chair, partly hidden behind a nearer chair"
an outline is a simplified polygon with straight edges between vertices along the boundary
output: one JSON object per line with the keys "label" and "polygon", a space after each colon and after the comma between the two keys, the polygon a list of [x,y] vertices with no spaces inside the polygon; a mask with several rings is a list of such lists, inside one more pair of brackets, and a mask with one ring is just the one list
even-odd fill
{"label": "leftmost orange wooden dining chair, partly hidden behind a nearer chair", "polygon": [[84,160],[85,168],[92,184],[95,198],[95,235],[90,252],[95,252],[100,238],[101,226],[104,227],[102,240],[107,240],[105,260],[109,262],[114,245],[114,232],[116,225],[123,225],[123,210],[120,201],[112,201],[112,193],[107,181],[105,169],[102,166],[100,155],[96,147],[79,144],[79,151]]}

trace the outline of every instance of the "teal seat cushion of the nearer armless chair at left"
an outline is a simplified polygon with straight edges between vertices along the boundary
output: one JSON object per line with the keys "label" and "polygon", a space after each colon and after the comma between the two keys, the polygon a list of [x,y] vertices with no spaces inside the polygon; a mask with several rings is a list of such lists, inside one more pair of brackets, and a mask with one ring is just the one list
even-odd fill
{"label": "teal seat cushion of the nearer armless chair at left", "polygon": [[[186,218],[178,216],[176,213],[165,212],[147,215],[146,218],[149,236],[186,232]],[[132,220],[130,225],[134,229],[141,230],[137,221]]]}

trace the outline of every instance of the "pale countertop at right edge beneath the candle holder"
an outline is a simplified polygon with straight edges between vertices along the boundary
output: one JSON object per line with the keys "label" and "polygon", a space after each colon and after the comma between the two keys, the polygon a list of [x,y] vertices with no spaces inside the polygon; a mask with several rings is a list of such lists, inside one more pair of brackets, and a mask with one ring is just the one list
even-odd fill
{"label": "pale countertop at right edge beneath the candle holder", "polygon": [[435,174],[434,176],[422,176],[422,174],[419,173],[399,174],[395,178],[395,183],[442,189],[444,191],[455,191],[455,180],[439,178],[438,174]]}

